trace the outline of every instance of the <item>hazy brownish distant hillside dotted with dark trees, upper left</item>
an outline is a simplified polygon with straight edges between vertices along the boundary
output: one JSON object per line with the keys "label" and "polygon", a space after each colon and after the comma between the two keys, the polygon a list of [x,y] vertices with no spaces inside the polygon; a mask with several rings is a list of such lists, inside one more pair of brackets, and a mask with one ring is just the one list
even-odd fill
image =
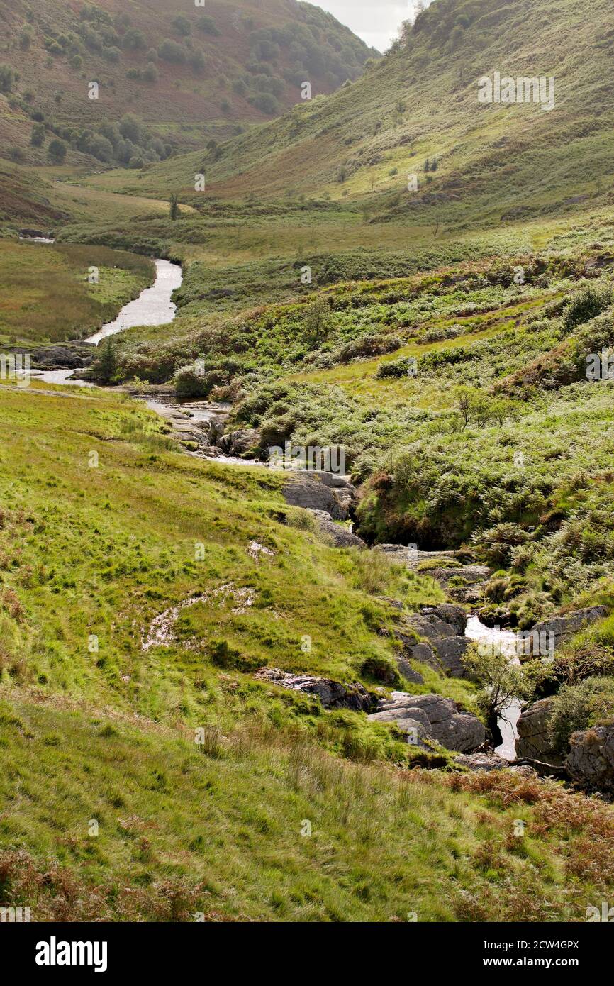
{"label": "hazy brownish distant hillside dotted with dark trees, upper left", "polygon": [[[0,3],[0,138],[31,164],[54,135],[75,162],[159,161],[206,136],[227,137],[363,71],[371,49],[296,0]],[[10,70],[13,70],[12,72]],[[100,85],[98,99],[89,84]],[[126,113],[146,130],[121,134]],[[40,131],[40,141],[31,134]]]}

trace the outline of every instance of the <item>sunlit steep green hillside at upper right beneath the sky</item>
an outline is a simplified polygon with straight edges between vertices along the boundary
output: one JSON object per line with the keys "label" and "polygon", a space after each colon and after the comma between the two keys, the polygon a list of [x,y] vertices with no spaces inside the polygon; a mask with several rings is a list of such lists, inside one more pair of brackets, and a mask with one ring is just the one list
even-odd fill
{"label": "sunlit steep green hillside at upper right beneath the sky", "polygon": [[[207,160],[208,197],[366,198],[374,217],[440,231],[608,202],[613,18],[605,0],[436,0],[362,79],[225,144]],[[554,77],[554,108],[481,105],[478,80],[495,71]],[[161,165],[144,187],[197,203],[197,161]]]}

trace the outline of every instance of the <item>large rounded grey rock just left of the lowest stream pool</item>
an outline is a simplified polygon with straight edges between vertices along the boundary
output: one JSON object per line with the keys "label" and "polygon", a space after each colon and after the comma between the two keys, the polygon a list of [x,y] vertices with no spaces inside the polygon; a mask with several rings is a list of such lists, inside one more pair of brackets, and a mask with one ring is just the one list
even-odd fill
{"label": "large rounded grey rock just left of the lowest stream pool", "polygon": [[447,749],[461,753],[473,752],[487,738],[486,729],[477,716],[464,712],[458,703],[441,695],[392,692],[391,698],[382,699],[377,711],[369,718],[374,722],[404,723],[404,732],[408,729],[407,721],[413,720],[423,727],[418,734],[420,740],[437,740]]}

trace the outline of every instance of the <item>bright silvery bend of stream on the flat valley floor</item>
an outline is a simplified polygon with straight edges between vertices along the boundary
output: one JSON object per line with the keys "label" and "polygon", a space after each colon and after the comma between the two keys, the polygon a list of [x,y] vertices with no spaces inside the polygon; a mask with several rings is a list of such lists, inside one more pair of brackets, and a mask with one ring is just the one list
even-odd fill
{"label": "bright silvery bend of stream on the flat valley floor", "polygon": [[[119,315],[112,321],[106,322],[102,328],[91,335],[86,342],[98,346],[108,335],[115,335],[125,328],[135,325],[166,325],[172,321],[176,305],[171,301],[172,292],[181,286],[183,274],[181,268],[170,260],[156,260],[156,281],[151,288],[142,291],[138,298],[124,305]],[[72,370],[44,370],[34,373],[35,380],[45,384],[74,384],[78,387],[94,387],[85,381],[75,380]]]}

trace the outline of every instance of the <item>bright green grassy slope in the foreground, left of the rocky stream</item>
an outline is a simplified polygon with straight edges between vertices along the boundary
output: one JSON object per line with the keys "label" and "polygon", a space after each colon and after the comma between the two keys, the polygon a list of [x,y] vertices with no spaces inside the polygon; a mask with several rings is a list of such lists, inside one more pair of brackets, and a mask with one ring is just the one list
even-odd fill
{"label": "bright green grassy slope in the foreground, left of the rocky stream", "polygon": [[[430,580],[281,524],[278,477],[178,455],[142,406],[38,390],[0,388],[3,899],[34,920],[582,919],[610,879],[607,810],[568,795],[561,813],[521,777],[399,772],[411,747],[387,727],[252,676],[360,678],[390,653],[362,587],[415,604]],[[273,554],[251,557],[255,538]]]}

